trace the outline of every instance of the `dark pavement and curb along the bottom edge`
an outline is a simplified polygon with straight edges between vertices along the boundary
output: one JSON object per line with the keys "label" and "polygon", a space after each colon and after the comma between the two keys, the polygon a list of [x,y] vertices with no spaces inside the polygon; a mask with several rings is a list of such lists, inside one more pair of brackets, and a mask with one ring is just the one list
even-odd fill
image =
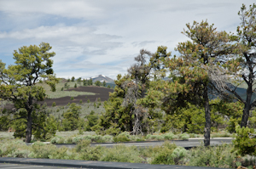
{"label": "dark pavement and curb along the bottom edge", "polygon": [[[23,164],[26,166],[6,166],[1,163],[11,164]],[[37,165],[28,166],[28,165]],[[2,167],[3,166],[3,167]],[[174,166],[174,165],[149,165],[149,164],[138,164],[138,163],[126,163],[126,162],[105,162],[105,161],[74,161],[74,160],[55,160],[55,159],[25,159],[25,158],[11,158],[11,157],[0,157],[0,168],[49,168],[55,169],[49,166],[61,166],[63,167],[77,167],[77,168],[106,168],[106,169],[152,169],[152,168],[169,168],[169,169],[213,169],[213,167],[200,167],[200,166]]]}

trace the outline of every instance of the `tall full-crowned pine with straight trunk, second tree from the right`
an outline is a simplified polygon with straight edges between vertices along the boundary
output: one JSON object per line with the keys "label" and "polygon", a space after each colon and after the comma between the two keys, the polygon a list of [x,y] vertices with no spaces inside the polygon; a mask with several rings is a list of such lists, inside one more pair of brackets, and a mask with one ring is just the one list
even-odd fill
{"label": "tall full-crowned pine with straight trunk, second tree from the right", "polygon": [[171,70],[173,82],[168,84],[168,89],[171,89],[168,93],[171,96],[167,96],[169,99],[166,99],[163,105],[169,109],[166,112],[172,110],[174,104],[185,106],[191,103],[203,106],[206,120],[204,144],[208,146],[211,132],[209,93],[218,87],[212,82],[207,68],[214,67],[214,63],[224,54],[230,54],[233,48],[229,43],[230,35],[225,31],[216,31],[207,21],[187,24],[187,28],[183,34],[192,42],[179,42],[176,50],[181,56],[166,62],[166,67]]}

